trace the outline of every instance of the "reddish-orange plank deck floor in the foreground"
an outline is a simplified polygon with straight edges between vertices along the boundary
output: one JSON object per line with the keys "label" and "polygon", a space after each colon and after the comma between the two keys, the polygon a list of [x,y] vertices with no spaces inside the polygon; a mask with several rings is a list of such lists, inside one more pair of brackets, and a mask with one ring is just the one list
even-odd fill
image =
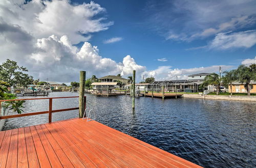
{"label": "reddish-orange plank deck floor in the foreground", "polygon": [[0,132],[0,167],[200,167],[96,121]]}

